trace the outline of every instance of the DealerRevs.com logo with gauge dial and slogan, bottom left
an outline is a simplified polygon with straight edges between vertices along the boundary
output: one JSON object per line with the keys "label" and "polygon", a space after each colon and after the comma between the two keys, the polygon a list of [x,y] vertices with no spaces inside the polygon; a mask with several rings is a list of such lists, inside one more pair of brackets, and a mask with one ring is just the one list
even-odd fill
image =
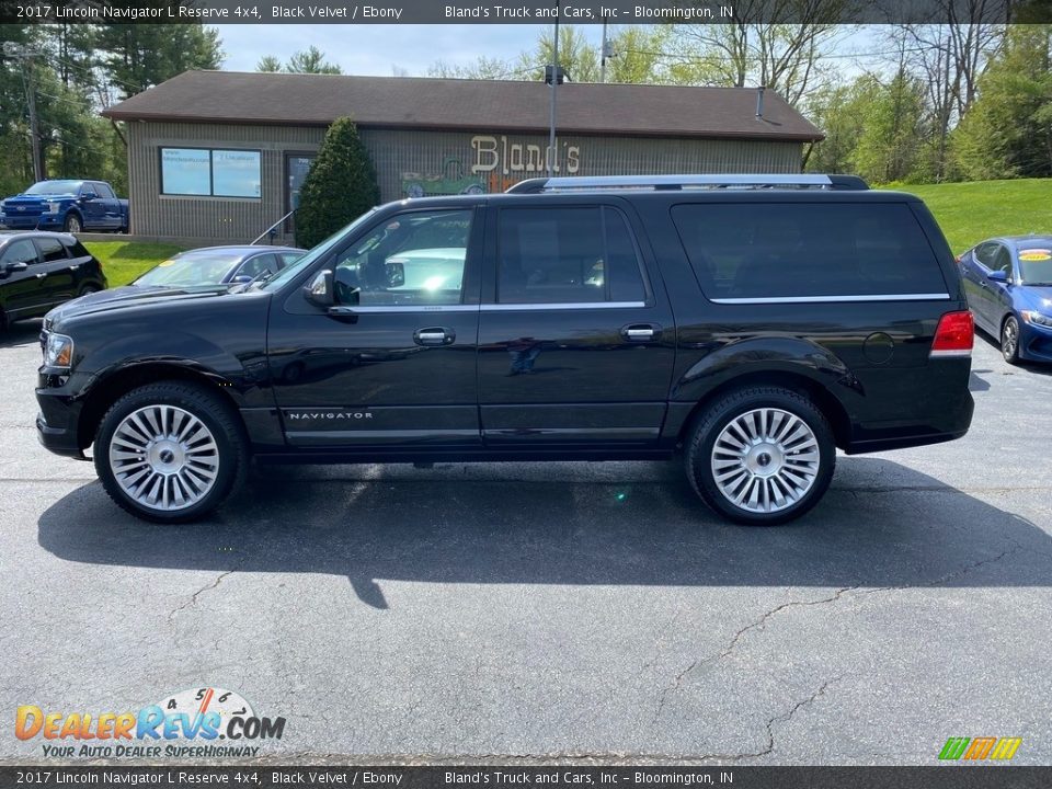
{"label": "DealerRevs.com logo with gauge dial and slogan, bottom left", "polygon": [[23,705],[14,720],[19,740],[46,741],[44,756],[54,758],[250,757],[260,751],[255,743],[284,733],[284,718],[256,716],[240,694],[219,687],[182,690],[138,712],[67,714]]}

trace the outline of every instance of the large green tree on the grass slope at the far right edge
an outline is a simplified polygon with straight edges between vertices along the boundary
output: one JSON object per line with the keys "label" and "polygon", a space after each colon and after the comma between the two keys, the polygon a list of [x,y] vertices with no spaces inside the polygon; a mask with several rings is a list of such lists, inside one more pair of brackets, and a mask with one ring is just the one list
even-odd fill
{"label": "large green tree on the grass slope at the far right edge", "polygon": [[1052,175],[1052,25],[1011,25],[950,137],[969,180]]}

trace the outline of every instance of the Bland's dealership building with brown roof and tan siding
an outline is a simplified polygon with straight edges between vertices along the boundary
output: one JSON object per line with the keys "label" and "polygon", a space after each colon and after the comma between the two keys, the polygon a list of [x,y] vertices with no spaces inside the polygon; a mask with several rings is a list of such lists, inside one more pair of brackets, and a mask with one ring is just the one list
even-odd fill
{"label": "Bland's dealership building with brown roof and tan siding", "polygon": [[[822,134],[773,91],[187,71],[103,114],[126,123],[132,232],[251,241],[297,205],[350,115],[384,201],[502,192],[526,178],[799,172]],[[275,242],[291,241],[293,219]]]}

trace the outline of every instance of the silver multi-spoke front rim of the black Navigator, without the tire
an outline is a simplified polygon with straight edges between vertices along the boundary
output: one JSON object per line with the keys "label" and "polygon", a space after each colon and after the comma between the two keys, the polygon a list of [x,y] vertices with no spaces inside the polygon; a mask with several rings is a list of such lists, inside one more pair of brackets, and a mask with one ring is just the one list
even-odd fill
{"label": "silver multi-spoke front rim of the black Navigator, without the tire", "polygon": [[140,506],[172,512],[208,495],[219,472],[219,447],[207,425],[174,405],[146,405],[117,425],[110,468]]}

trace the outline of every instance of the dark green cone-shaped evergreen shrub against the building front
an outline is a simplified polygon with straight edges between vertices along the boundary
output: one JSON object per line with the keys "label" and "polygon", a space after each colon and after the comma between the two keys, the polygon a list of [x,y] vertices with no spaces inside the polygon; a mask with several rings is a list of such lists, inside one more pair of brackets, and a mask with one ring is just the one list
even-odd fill
{"label": "dark green cone-shaped evergreen shrub against the building front", "polygon": [[310,165],[296,211],[296,241],[310,248],[380,202],[369,153],[350,117],[336,118]]}

